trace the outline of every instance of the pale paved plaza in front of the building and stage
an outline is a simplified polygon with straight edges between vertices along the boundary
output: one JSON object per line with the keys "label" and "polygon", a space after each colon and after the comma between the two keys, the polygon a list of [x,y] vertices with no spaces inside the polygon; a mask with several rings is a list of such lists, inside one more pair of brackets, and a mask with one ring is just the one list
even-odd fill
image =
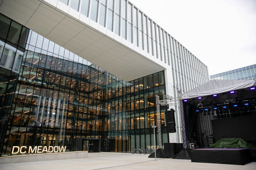
{"label": "pale paved plaza in front of the building and stage", "polygon": [[0,170],[256,170],[256,162],[241,165],[197,163],[148,154],[88,153],[88,158],[2,164]]}

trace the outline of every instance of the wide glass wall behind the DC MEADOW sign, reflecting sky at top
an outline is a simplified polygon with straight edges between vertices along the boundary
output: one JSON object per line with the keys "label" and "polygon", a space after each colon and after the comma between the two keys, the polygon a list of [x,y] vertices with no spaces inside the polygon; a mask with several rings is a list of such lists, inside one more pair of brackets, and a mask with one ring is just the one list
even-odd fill
{"label": "wide glass wall behind the DC MEADOW sign, reflecting sky at top", "polygon": [[100,138],[106,72],[30,31],[9,116],[13,145],[65,145]]}

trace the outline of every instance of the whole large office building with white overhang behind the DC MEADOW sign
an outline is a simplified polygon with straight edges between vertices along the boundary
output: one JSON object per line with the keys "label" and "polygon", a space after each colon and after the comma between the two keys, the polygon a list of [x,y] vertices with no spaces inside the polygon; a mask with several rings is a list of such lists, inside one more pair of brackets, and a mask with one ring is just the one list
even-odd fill
{"label": "whole large office building with white overhang behind the DC MEADOW sign", "polygon": [[[155,95],[177,98],[209,79],[205,64],[128,0],[0,0],[0,13],[2,155],[23,145],[146,148]],[[172,107],[176,133],[160,107],[162,143],[182,143]]]}

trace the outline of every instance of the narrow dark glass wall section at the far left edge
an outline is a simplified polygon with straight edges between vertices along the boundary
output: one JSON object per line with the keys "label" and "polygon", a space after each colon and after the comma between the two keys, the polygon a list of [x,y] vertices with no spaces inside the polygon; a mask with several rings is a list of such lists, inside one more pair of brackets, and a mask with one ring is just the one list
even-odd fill
{"label": "narrow dark glass wall section at the far left edge", "polygon": [[29,30],[0,14],[0,155]]}

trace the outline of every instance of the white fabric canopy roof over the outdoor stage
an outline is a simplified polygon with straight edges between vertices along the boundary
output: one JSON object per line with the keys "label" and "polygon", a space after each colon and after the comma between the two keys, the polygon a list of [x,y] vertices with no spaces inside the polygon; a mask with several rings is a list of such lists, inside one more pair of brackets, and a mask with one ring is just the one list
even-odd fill
{"label": "white fabric canopy roof over the outdoor stage", "polygon": [[181,99],[208,96],[251,86],[256,86],[255,80],[211,80],[182,94]]}

